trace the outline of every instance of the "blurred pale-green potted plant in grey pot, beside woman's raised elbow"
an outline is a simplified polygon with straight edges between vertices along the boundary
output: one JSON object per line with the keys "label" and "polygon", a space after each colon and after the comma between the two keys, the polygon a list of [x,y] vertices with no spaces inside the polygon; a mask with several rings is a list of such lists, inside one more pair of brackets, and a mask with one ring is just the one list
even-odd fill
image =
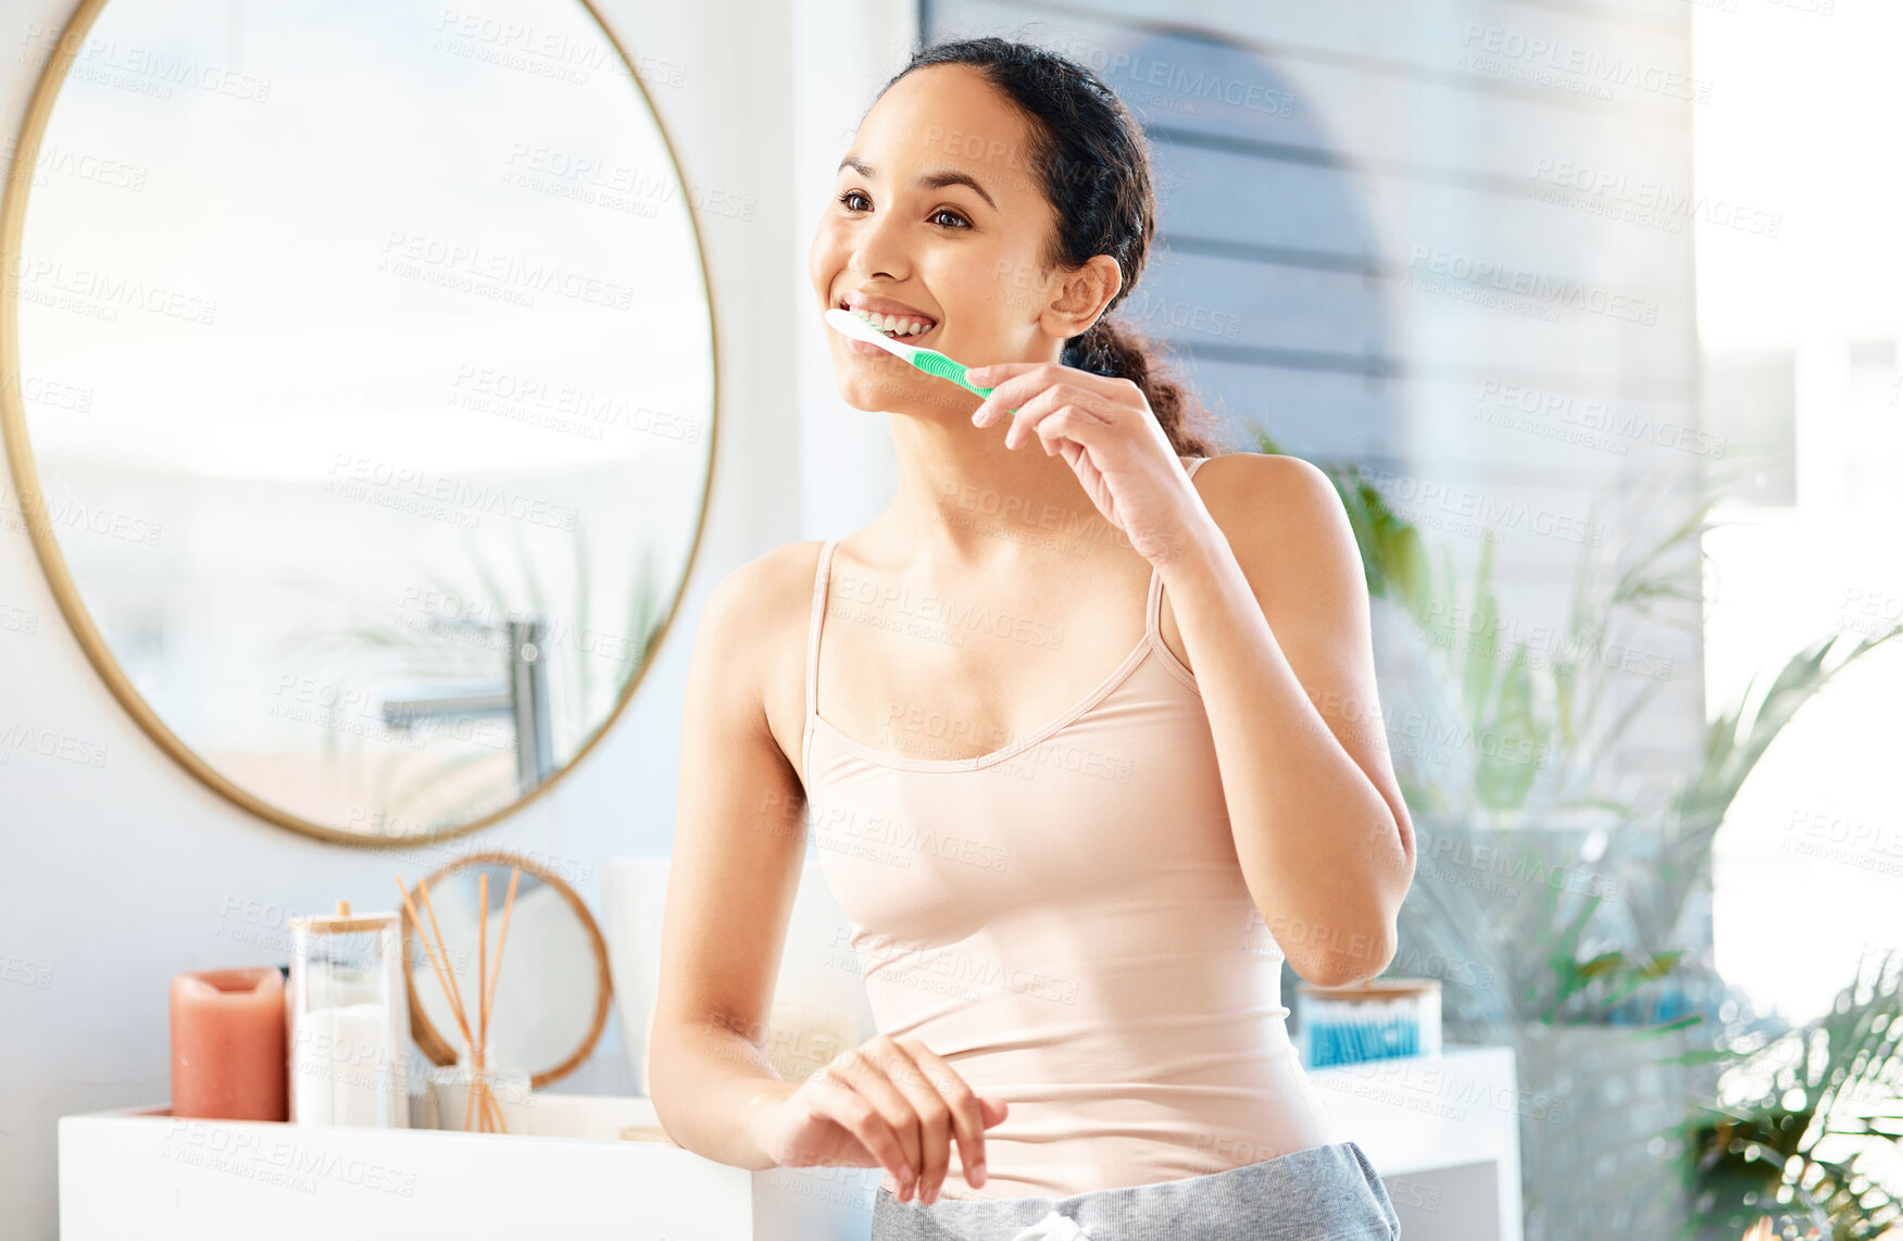
{"label": "blurred pale-green potted plant in grey pot, beside woman's raised elbow", "polygon": [[1490,541],[1463,577],[1355,464],[1315,464],[1361,546],[1416,820],[1389,973],[1442,980],[1450,1041],[1515,1049],[1545,1117],[1520,1125],[1530,1239],[1675,1235],[1692,1212],[1684,1100],[1715,1093],[1707,1014],[1728,995],[1705,936],[1680,935],[1713,837],[1796,710],[1903,626],[1812,643],[1705,725],[1688,773],[1633,788],[1606,759],[1667,678],[1635,689],[1599,653],[1648,626],[1697,630],[1715,487],[1684,468],[1614,487],[1568,620],[1498,638]]}

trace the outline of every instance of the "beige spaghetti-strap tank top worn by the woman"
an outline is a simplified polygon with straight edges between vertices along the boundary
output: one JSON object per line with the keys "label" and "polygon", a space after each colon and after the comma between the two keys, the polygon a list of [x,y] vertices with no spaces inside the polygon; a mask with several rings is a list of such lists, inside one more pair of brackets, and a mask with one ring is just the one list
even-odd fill
{"label": "beige spaghetti-strap tank top worn by the woman", "polygon": [[847,963],[881,1034],[1010,1104],[984,1188],[953,1144],[944,1195],[1066,1197],[1338,1142],[1288,1039],[1203,697],[1163,641],[1161,575],[1142,641],[1083,700],[990,754],[921,758],[818,714],[835,546],[814,573],[801,744]]}

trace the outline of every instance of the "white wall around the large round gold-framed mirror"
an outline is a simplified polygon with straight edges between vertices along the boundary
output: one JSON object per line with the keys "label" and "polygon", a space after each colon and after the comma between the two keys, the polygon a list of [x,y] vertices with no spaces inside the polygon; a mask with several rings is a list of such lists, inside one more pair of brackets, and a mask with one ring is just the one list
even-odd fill
{"label": "white wall around the large round gold-framed mirror", "polygon": [[[687,181],[752,196],[755,209],[752,221],[702,221],[721,407],[683,611],[613,733],[521,815],[400,858],[247,817],[147,740],[67,630],[25,535],[0,533],[0,613],[36,619],[32,632],[0,634],[0,723],[107,752],[97,769],[36,754],[0,765],[0,1231],[10,1241],[57,1233],[59,1115],[167,1096],[173,973],[285,961],[287,914],[339,896],[392,908],[394,870],[413,881],[457,851],[559,858],[596,910],[607,858],[666,851],[681,687],[706,592],[773,546],[851,531],[891,495],[885,419],[834,396],[805,251],[845,131],[904,61],[913,8],[797,8],[795,23],[795,0],[599,4],[632,55],[687,67],[683,86],[653,91]],[[0,46],[23,48],[70,10],[70,0],[10,0]],[[0,57],[0,133],[19,131],[32,86],[23,57]],[[786,383],[792,373],[797,383]],[[626,1081],[611,1022],[563,1089],[618,1093]]]}

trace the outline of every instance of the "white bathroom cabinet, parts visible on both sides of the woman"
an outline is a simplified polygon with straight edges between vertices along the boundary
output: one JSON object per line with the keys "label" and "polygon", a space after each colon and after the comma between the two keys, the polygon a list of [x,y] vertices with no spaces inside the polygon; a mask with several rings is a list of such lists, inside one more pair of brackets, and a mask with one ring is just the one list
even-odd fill
{"label": "white bathroom cabinet, parts visible on both sides of the woman", "polygon": [[[1520,1241],[1513,1053],[1311,1070],[1406,1241]],[[879,1169],[748,1172],[670,1142],[645,1098],[535,1094],[525,1133],[59,1119],[61,1241],[864,1241]],[[421,1117],[419,1117],[421,1119]],[[1534,1117],[1562,1123],[1562,1117]]]}

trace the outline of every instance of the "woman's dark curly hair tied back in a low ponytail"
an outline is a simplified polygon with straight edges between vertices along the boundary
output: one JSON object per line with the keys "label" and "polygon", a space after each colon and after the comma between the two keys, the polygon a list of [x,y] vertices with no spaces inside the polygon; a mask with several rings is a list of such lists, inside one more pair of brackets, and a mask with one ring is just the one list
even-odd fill
{"label": "woman's dark curly hair tied back in a low ponytail", "polygon": [[1077,268],[1109,255],[1123,270],[1123,287],[1083,335],[1064,343],[1058,358],[1094,375],[1128,379],[1184,457],[1212,457],[1214,445],[1189,423],[1208,419],[1187,388],[1170,379],[1151,343],[1111,320],[1144,272],[1157,232],[1157,198],[1149,177],[1149,147],[1123,101],[1083,65],[1045,48],[1005,38],[967,38],[919,48],[879,88],[929,65],[969,65],[982,72],[1030,122],[1031,167],[1056,213],[1045,266]]}

